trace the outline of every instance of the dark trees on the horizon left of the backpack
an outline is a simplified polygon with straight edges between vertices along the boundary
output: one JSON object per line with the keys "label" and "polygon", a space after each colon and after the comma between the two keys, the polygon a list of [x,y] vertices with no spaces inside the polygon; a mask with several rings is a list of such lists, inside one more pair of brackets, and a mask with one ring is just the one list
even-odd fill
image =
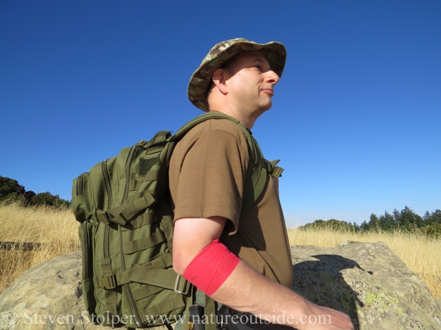
{"label": "dark trees on the horizon left of the backpack", "polygon": [[0,176],[0,202],[19,201],[25,206],[47,205],[57,208],[70,207],[70,201],[61,199],[59,195],[52,195],[50,192],[39,192],[25,190],[17,180],[10,177]]}

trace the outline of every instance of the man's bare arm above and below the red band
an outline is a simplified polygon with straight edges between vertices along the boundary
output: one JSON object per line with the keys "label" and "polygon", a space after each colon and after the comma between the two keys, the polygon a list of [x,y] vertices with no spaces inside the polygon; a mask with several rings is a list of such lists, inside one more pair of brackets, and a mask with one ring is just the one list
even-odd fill
{"label": "man's bare arm above and below the red band", "polygon": [[[176,273],[183,275],[194,257],[214,239],[220,237],[226,221],[223,217],[176,220],[173,236],[173,267]],[[309,302],[287,287],[258,274],[244,261],[238,263],[211,298],[238,311],[247,311],[264,320],[289,325],[298,330],[353,329],[346,314]],[[308,322],[316,321],[318,316],[322,316],[326,322],[330,320],[331,324],[318,325]]]}

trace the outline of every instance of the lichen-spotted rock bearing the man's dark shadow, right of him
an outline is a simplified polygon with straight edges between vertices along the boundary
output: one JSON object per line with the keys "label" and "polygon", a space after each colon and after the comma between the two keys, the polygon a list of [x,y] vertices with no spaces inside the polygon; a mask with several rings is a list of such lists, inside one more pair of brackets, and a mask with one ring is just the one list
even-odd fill
{"label": "lichen-spotted rock bearing the man's dark shadow, right of him", "polygon": [[294,245],[291,254],[292,289],[349,314],[358,329],[441,329],[440,305],[386,244]]}

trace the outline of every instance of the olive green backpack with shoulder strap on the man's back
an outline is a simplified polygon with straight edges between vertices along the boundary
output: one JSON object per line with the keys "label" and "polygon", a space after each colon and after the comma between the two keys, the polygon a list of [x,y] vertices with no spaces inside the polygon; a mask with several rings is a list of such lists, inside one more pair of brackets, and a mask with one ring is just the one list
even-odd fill
{"label": "olive green backpack with shoulder strap on the man's back", "polygon": [[163,325],[180,320],[194,303],[195,288],[178,276],[172,265],[168,166],[176,142],[209,119],[232,120],[247,137],[250,164],[241,214],[263,192],[267,173],[274,177],[282,173],[283,169],[276,166],[278,161],[263,158],[243,124],[216,112],[195,118],[175,135],[160,131],[149,142],[123,148],[116,157],[76,177],[72,203],[81,223],[81,287],[92,322],[113,327]]}

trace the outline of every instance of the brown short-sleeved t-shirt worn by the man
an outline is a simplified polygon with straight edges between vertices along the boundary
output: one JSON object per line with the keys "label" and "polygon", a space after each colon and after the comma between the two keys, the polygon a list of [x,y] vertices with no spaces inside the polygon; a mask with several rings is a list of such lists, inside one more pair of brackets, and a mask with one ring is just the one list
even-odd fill
{"label": "brown short-sleeved t-shirt worn by the man", "polygon": [[230,120],[198,124],[176,144],[170,160],[174,220],[225,217],[220,241],[260,274],[291,287],[293,268],[278,182],[268,175],[256,204],[240,217],[247,139]]}

